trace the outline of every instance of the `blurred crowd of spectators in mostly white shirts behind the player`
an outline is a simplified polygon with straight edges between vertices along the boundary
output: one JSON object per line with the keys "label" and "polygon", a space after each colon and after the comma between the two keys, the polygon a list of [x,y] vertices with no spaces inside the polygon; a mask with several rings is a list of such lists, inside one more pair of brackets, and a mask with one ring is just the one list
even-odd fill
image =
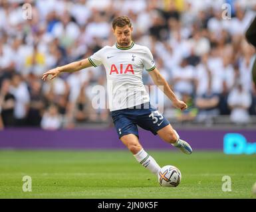
{"label": "blurred crowd of spectators in mostly white shirts behind the player", "polygon": [[[24,3],[31,5],[32,19],[24,19]],[[111,21],[118,15],[132,19],[133,40],[150,48],[158,70],[190,106],[181,113],[165,98],[164,114],[171,123],[214,125],[219,117],[252,123],[255,49],[244,34],[256,15],[256,1],[2,0],[0,125],[60,129],[110,123],[108,109],[91,104],[92,87],[106,87],[103,66],[53,81],[44,82],[41,75],[115,44]],[[143,79],[153,85],[146,71]]]}

